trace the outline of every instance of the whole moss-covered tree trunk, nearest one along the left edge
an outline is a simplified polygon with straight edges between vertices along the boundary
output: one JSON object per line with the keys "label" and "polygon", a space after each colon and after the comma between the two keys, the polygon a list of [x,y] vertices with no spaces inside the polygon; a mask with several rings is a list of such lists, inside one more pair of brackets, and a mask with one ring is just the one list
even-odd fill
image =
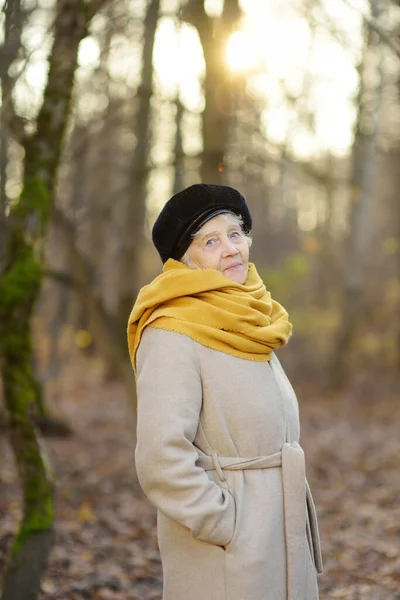
{"label": "whole moss-covered tree trunk, nearest one along the left edge", "polygon": [[80,40],[86,34],[83,0],[59,0],[49,73],[35,133],[25,139],[23,188],[9,219],[0,278],[0,354],[10,441],[24,490],[23,519],[5,573],[2,600],[35,600],[51,547],[53,481],[33,424],[37,382],[32,370],[30,320],[38,296],[43,236],[70,110]]}

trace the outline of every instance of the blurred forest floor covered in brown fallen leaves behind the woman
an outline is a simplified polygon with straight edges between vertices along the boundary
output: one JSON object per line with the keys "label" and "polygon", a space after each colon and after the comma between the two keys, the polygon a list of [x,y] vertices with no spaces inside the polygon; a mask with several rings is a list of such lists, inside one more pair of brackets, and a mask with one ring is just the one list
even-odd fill
{"label": "blurred forest floor covered in brown fallen leaves behind the woman", "polygon": [[[400,599],[399,386],[370,375],[338,398],[298,389],[322,537],[321,600]],[[121,390],[71,384],[57,409],[73,435],[46,440],[57,524],[41,600],[160,600],[155,513],[135,477]],[[1,572],[21,501],[4,432],[0,456]]]}

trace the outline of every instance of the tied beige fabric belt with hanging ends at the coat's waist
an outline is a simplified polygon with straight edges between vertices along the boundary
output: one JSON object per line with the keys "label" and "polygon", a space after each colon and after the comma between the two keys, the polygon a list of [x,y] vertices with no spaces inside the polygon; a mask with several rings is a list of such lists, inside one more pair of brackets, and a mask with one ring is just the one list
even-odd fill
{"label": "tied beige fabric belt with hanging ends at the coat's waist", "polygon": [[317,513],[300,445],[285,443],[281,452],[254,458],[199,454],[197,464],[205,471],[216,471],[221,481],[226,481],[224,471],[282,468],[288,600],[305,600],[301,590],[305,590],[307,540],[318,573],[322,572],[322,556]]}

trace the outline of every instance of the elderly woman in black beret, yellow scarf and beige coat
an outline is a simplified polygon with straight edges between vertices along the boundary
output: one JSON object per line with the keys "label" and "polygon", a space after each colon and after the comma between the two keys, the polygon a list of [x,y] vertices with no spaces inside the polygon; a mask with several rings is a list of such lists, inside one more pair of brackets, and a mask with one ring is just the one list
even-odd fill
{"label": "elderly woman in black beret, yellow scarf and beige coat", "polygon": [[274,352],[292,326],[249,263],[251,226],[233,188],[173,196],[153,228],[163,273],[129,318],[164,600],[318,598],[298,405]]}

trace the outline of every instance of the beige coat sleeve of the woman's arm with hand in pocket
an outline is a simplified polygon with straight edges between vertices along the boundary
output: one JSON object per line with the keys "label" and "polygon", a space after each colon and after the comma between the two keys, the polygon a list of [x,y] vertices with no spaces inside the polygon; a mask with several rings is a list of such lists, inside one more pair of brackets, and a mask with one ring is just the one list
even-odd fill
{"label": "beige coat sleeve of the woman's arm with hand in pocket", "polygon": [[234,498],[195,464],[202,406],[195,343],[147,327],[137,354],[137,386],[135,459],[143,491],[195,538],[227,545],[235,527]]}

